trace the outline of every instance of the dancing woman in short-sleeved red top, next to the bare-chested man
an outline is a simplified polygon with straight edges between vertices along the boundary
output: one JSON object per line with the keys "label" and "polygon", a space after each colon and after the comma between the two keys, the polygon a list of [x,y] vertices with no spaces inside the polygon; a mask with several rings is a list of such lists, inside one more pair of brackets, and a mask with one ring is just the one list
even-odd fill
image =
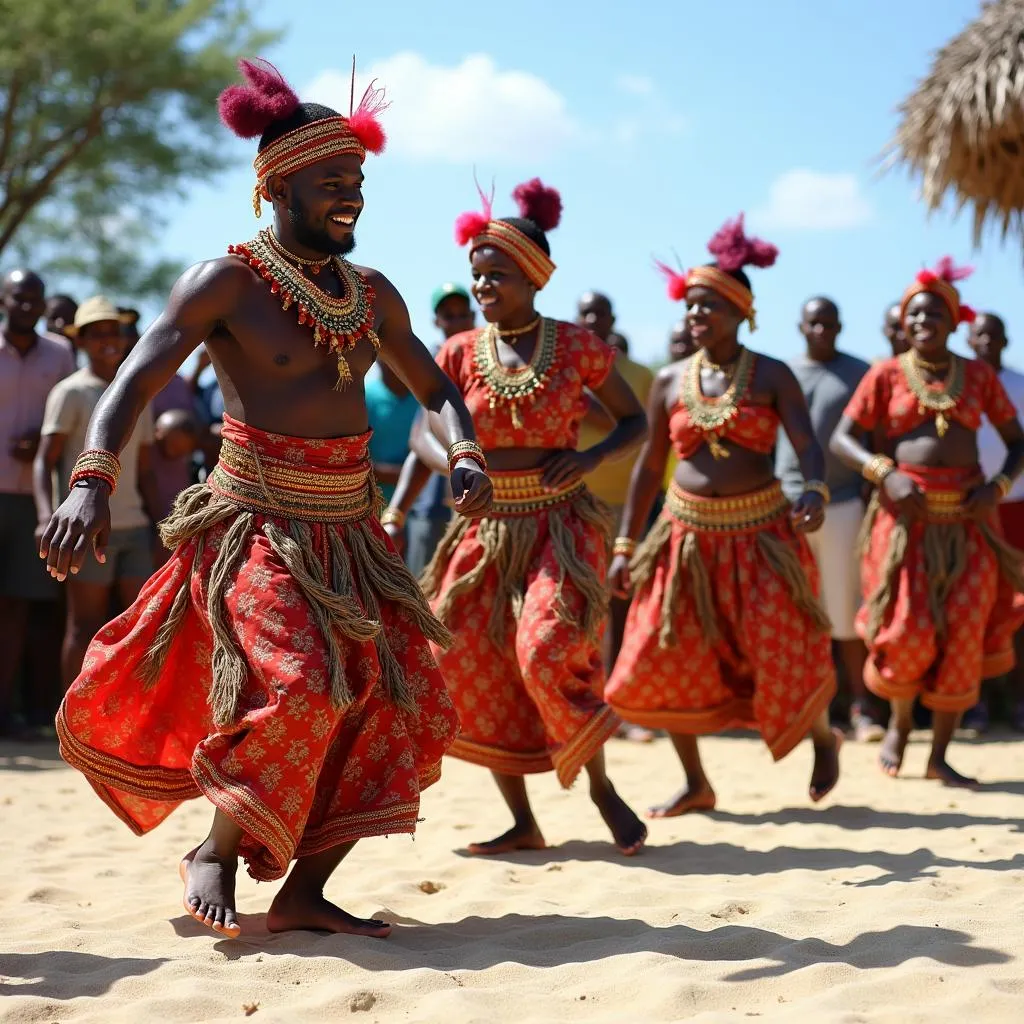
{"label": "dancing woman in short-sleeved red top, next to the bare-chested man", "polygon": [[[618,725],[600,698],[611,524],[582,478],[642,440],[644,414],[612,369],[612,348],[537,312],[555,269],[545,232],[557,225],[561,200],[536,178],[513,195],[519,217],[495,220],[484,201],[483,213],[457,222],[486,326],[450,338],[437,355],[473,415],[496,488],[487,517],[457,521],[422,581],[455,634],[435,652],[462,719],[450,753],[492,770],[515,820],[472,853],[543,848],[523,776],[554,768],[568,786],[586,767],[591,798],[629,855],[646,828],[612,788],[602,752]],[[588,388],[617,425],[577,452]],[[414,444],[446,470],[426,431]],[[399,481],[386,527],[400,527],[406,504]]]}

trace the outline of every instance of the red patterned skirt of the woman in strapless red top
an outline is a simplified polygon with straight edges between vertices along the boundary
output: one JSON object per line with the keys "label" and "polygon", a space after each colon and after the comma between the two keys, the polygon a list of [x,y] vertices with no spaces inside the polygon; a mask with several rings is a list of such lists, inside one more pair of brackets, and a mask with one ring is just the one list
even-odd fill
{"label": "red patterned skirt of the woman in strapless red top", "polygon": [[636,592],[604,696],[628,722],[757,729],[785,757],[836,693],[818,570],[781,486],[702,498],[673,484],[637,551]]}

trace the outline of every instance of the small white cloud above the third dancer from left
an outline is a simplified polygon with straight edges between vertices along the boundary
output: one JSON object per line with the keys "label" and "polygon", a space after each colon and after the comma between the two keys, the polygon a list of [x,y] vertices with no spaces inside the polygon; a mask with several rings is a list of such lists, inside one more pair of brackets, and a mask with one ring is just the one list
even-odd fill
{"label": "small white cloud above the third dancer from left", "polygon": [[831,231],[859,227],[873,215],[855,174],[796,168],[772,182],[767,206],[751,219],[765,228]]}

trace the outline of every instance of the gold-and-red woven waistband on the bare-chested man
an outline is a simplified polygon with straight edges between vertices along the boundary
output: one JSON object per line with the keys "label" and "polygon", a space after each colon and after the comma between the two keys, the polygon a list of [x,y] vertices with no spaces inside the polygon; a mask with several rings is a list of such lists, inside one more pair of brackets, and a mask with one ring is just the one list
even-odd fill
{"label": "gold-and-red woven waistband on the bare-chested man", "polygon": [[309,469],[266,454],[257,456],[227,438],[207,485],[252,512],[310,522],[362,519],[380,503],[368,459]]}

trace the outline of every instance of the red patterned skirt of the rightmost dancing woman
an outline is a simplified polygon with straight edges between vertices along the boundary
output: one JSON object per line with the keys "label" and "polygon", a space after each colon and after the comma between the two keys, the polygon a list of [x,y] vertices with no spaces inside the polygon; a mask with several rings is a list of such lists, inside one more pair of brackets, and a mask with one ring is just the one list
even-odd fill
{"label": "red patterned skirt of the rightmost dancing woman", "polygon": [[935,711],[967,711],[982,679],[1014,666],[1024,623],[1024,555],[998,517],[967,519],[977,467],[900,466],[928,500],[928,520],[903,522],[876,494],[868,510],[857,631],[868,648],[864,682],[888,700],[921,696]]}

